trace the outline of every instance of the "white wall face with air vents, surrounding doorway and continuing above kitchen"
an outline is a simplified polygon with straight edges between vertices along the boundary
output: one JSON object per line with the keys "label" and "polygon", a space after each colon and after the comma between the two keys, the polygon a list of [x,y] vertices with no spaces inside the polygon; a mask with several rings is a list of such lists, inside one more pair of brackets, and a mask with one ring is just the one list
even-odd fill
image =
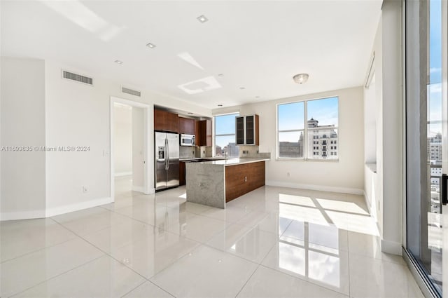
{"label": "white wall face with air vents, surrounding doorway and continuing above kitchen", "polygon": [[[89,208],[112,201],[110,180],[110,101],[111,96],[146,104],[157,104],[188,110],[195,114],[210,116],[211,110],[194,106],[163,95],[141,90],[141,97],[121,92],[121,84],[82,69],[57,62],[45,61],[47,90],[47,121],[49,144],[90,145],[88,152],[55,154],[48,161],[47,208],[54,213]],[[92,76],[94,86],[61,79],[61,68]],[[152,149],[149,167],[153,161],[153,116],[149,117],[148,146]],[[59,123],[66,123],[61,126]],[[153,189],[153,171],[149,171],[149,189]],[[83,193],[83,186],[87,193]]]}

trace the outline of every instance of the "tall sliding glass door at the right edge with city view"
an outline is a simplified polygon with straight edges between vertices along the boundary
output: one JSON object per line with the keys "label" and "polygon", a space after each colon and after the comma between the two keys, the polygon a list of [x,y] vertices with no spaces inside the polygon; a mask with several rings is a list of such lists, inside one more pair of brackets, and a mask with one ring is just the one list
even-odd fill
{"label": "tall sliding glass door at the right edge with city view", "polygon": [[448,228],[441,194],[448,157],[446,10],[446,0],[406,1],[405,9],[406,247],[429,292],[440,297]]}

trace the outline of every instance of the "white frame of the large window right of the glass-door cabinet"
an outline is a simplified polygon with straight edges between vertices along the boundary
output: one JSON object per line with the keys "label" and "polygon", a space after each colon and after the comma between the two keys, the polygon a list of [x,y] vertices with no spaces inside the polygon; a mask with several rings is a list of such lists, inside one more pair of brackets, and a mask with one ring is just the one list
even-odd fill
{"label": "white frame of the large window right of the glass-door cabinet", "polygon": [[[340,128],[339,128],[339,95],[331,95],[331,96],[325,96],[325,97],[316,97],[316,98],[310,98],[310,99],[304,99],[304,100],[295,100],[295,101],[291,101],[291,102],[280,102],[276,104],[276,160],[277,161],[324,161],[324,162],[339,162],[339,149],[335,149],[337,150],[337,158],[315,158],[313,156],[315,156],[314,154],[314,150],[311,150],[311,152],[309,152],[309,144],[311,144],[311,141],[308,140],[308,133],[309,131],[313,131],[313,130],[319,130],[319,128],[308,128],[308,102],[311,102],[313,100],[326,100],[329,98],[337,98],[337,123],[335,125],[334,128],[337,130],[337,137],[334,140],[335,144],[337,144],[337,147],[339,147],[339,134],[340,134]],[[304,128],[303,129],[295,129],[295,130],[279,130],[279,106],[283,105],[283,104],[293,104],[296,102],[303,102],[304,104]],[[322,128],[320,128],[322,129]],[[280,142],[279,142],[279,133],[287,133],[287,132],[303,132],[303,156],[302,157],[281,157],[280,156]],[[313,144],[314,144],[314,137],[313,137]],[[317,141],[318,142],[318,141]],[[329,146],[330,142],[328,142],[327,146]],[[334,146],[334,144],[333,144]],[[329,148],[329,147],[328,147]],[[330,150],[328,150],[328,157],[331,156],[330,155]],[[334,155],[333,155],[334,156]]]}

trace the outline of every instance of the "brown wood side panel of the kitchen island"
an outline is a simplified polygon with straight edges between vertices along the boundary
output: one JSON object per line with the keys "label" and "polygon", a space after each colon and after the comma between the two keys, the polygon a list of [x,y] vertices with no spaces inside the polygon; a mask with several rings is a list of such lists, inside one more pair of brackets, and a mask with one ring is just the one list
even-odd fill
{"label": "brown wood side panel of the kitchen island", "polygon": [[265,162],[225,167],[225,202],[265,185]]}

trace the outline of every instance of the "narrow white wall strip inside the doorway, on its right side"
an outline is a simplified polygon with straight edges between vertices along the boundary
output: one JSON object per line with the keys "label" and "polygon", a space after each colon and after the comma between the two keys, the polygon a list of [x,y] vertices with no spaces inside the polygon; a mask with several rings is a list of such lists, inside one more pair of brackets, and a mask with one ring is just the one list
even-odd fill
{"label": "narrow white wall strip inside the doorway, on its right side", "polygon": [[144,110],[132,107],[132,189],[144,191]]}

